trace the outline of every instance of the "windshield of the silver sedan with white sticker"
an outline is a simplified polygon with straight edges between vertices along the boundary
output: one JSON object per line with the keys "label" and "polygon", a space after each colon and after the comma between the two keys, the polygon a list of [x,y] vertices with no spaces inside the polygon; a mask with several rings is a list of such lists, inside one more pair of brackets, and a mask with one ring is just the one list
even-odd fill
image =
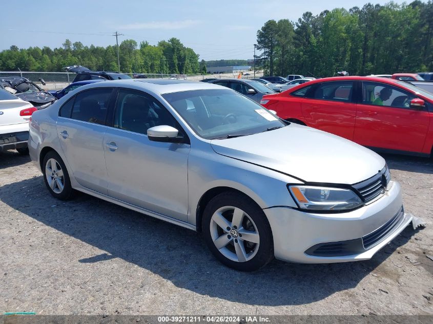
{"label": "windshield of the silver sedan with white sticker", "polygon": [[162,97],[204,139],[251,135],[286,126],[261,105],[232,90],[192,90]]}

